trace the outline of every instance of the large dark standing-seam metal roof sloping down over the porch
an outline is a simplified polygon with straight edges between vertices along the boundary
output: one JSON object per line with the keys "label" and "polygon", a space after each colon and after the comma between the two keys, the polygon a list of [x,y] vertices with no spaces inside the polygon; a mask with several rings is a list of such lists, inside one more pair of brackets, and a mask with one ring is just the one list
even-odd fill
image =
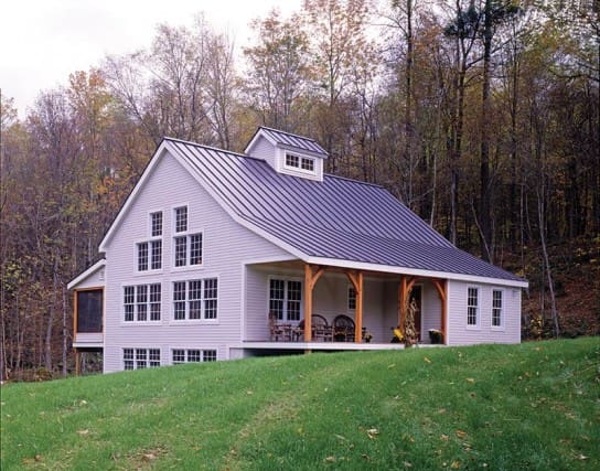
{"label": "large dark standing-seam metal roof sloping down over the porch", "polygon": [[161,148],[239,224],[306,261],[527,286],[454,247],[382,186],[285,175],[260,159],[170,138]]}

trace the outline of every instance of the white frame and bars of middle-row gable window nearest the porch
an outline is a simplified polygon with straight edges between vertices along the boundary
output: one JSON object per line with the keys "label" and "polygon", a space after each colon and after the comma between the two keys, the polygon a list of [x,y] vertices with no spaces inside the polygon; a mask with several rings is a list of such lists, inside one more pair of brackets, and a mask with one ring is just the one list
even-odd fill
{"label": "white frame and bars of middle-row gable window nearest the porch", "polygon": [[[216,288],[207,288],[206,282],[208,281],[216,281]],[[197,283],[200,282],[200,298],[193,298],[190,299],[190,285],[191,283]],[[179,283],[184,285],[184,298],[181,298],[181,296],[178,296],[178,293],[181,293],[181,290],[175,291],[175,287]],[[218,322],[218,307],[221,304],[219,298],[218,298],[218,287],[221,282],[218,280],[218,277],[203,277],[203,278],[194,278],[194,279],[178,279],[173,280],[171,282],[171,319],[170,323],[172,324],[183,324],[183,323],[217,323]],[[216,289],[216,297],[206,298],[206,290],[207,289]],[[178,296],[178,299],[175,299],[175,296]],[[184,311],[183,311],[183,318],[176,319],[175,315],[178,313],[178,309],[175,308],[176,303],[184,303]],[[200,306],[200,317],[190,319],[190,313],[192,311],[192,308],[195,304],[192,303],[199,303]],[[214,308],[208,308],[208,302],[214,302]],[[211,309],[211,311],[214,309],[214,317],[206,317],[207,309]],[[195,311],[195,309],[194,309]]]}

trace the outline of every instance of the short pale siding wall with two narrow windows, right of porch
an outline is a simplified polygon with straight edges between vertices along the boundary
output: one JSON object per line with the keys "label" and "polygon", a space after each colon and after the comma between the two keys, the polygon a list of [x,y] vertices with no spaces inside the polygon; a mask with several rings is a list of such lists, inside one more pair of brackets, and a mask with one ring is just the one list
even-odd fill
{"label": "short pale siding wall with two narrow windows, right of porch", "polygon": [[[467,325],[467,293],[478,288],[478,325]],[[502,290],[503,325],[492,327],[492,290]],[[465,345],[475,343],[521,342],[521,289],[497,285],[448,282],[448,343]]]}

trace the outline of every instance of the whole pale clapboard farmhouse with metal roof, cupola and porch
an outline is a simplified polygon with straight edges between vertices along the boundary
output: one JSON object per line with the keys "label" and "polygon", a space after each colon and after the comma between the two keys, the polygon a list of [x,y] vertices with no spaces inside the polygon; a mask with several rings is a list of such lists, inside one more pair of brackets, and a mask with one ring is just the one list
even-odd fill
{"label": "whole pale clapboard farmhouse with metal roof, cupola and porch", "polygon": [[104,258],[69,283],[76,351],[101,351],[115,372],[401,347],[390,340],[409,304],[424,344],[521,341],[524,279],[383,188],[323,173],[326,158],[269,128],[245,154],[165,138]]}

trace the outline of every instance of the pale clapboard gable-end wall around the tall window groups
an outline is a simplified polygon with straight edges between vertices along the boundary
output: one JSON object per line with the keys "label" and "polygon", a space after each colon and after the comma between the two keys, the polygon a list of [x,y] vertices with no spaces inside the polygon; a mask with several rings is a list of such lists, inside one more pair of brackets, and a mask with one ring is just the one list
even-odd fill
{"label": "pale clapboard gable-end wall around the tall window groups", "polygon": [[[174,268],[173,210],[188,205],[189,233],[203,234],[203,264]],[[162,269],[137,271],[136,243],[148,240],[150,213],[163,212]],[[106,250],[105,372],[122,370],[122,349],[160,349],[171,364],[172,349],[216,350],[226,360],[242,340],[243,260],[283,257],[280,248],[235,223],[174,158],[165,154],[131,204]],[[173,320],[174,281],[217,278],[215,320]],[[161,282],[161,320],[124,321],[124,286]]]}

